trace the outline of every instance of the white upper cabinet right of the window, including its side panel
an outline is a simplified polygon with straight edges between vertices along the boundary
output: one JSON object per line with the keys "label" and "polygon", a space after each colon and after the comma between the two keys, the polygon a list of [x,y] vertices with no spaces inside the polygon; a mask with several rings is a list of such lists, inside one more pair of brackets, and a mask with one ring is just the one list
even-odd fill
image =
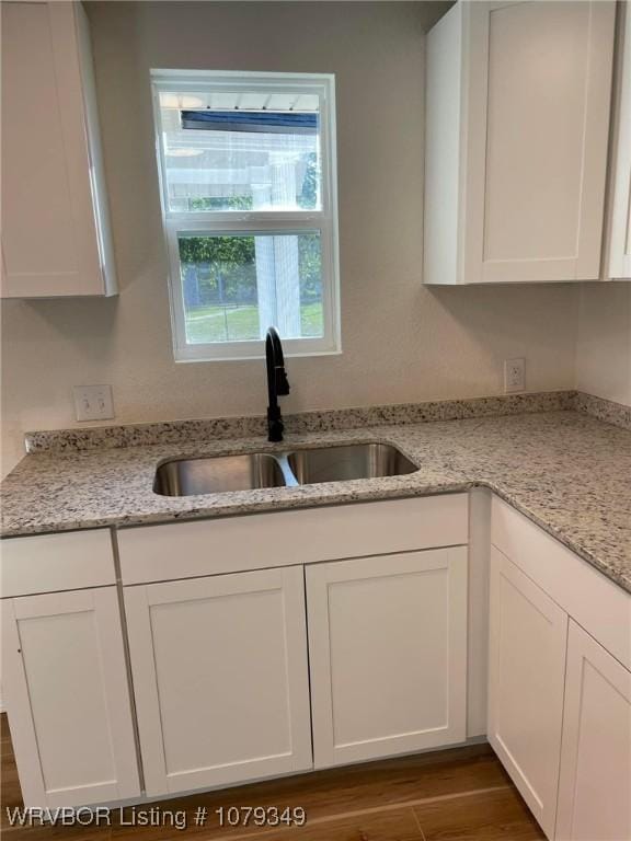
{"label": "white upper cabinet right of the window, including its side panel", "polygon": [[461,1],[428,33],[426,284],[598,279],[615,18]]}

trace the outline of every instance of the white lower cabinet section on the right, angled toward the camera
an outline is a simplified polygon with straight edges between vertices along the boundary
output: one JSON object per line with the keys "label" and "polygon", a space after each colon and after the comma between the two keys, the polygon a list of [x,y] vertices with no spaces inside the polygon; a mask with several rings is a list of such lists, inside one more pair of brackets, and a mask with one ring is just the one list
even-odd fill
{"label": "white lower cabinet section on the right, angled toward the camera", "polygon": [[496,497],[489,741],[546,836],[631,839],[631,596]]}

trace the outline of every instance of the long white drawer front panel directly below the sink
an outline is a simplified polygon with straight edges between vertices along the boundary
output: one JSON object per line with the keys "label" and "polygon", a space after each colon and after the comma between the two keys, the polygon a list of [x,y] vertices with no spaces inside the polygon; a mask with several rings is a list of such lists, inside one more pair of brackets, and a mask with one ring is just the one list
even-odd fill
{"label": "long white drawer front panel directly below the sink", "polygon": [[467,494],[257,514],[118,531],[123,583],[461,545]]}

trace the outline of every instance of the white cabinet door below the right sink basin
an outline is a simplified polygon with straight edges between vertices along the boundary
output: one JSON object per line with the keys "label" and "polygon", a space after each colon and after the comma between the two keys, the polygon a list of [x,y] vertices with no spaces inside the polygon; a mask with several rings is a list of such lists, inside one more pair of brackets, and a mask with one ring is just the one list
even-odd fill
{"label": "white cabinet door below the right sink basin", "polygon": [[463,741],[467,549],[307,567],[316,768]]}

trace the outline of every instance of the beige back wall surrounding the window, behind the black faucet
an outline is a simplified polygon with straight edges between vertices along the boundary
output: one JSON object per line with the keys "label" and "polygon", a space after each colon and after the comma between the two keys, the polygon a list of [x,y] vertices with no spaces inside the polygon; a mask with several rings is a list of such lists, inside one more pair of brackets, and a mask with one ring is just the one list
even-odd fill
{"label": "beige back wall surrounding the window, behind the black faucet", "polygon": [[74,424],[71,387],[112,383],[117,422],[257,414],[264,364],[175,365],[153,157],[149,68],[334,72],[340,357],[290,359],[286,411],[574,384],[571,287],[421,286],[423,32],[438,2],[90,2],[121,295],[8,302],[4,470],[25,429]]}

